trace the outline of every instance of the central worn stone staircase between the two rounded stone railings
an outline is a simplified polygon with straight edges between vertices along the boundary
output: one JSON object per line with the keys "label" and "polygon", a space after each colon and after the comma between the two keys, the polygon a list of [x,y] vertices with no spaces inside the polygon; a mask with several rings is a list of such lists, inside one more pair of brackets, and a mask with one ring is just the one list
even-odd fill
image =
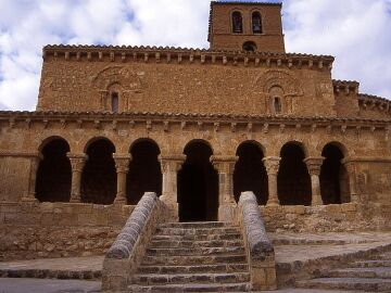
{"label": "central worn stone staircase between the two rounded stone railings", "polygon": [[249,265],[239,228],[211,221],[160,225],[128,290],[250,291]]}

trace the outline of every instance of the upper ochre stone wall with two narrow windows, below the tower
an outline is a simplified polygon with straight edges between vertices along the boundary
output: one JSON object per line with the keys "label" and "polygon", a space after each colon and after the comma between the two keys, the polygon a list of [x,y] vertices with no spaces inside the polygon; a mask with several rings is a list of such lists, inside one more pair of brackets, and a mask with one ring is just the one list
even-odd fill
{"label": "upper ochre stone wall with two narrow windows, below the tower", "polygon": [[[47,53],[37,110],[112,111],[111,92],[119,95],[119,112],[272,114],[273,87],[282,89],[285,115],[335,116],[333,87],[328,67],[288,69],[240,64],[211,64],[189,60],[146,62],[144,53],[101,61]],[[125,53],[126,54],[126,53]],[[209,58],[212,58],[210,55]],[[241,56],[243,60],[245,56]],[[174,53],[173,53],[174,59]],[[265,61],[264,61],[265,62]],[[167,64],[168,63],[168,64]],[[314,82],[316,80],[316,82]],[[239,99],[240,98],[240,99]],[[207,102],[206,102],[207,101]]]}

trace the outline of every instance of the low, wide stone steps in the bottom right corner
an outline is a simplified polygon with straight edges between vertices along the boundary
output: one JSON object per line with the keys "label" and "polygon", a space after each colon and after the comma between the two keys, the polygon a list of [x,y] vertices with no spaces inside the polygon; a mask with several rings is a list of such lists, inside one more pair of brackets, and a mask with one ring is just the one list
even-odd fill
{"label": "low, wide stone steps in the bottom right corner", "polygon": [[391,292],[391,252],[366,260],[350,263],[348,268],[321,272],[320,278],[298,281],[306,289]]}

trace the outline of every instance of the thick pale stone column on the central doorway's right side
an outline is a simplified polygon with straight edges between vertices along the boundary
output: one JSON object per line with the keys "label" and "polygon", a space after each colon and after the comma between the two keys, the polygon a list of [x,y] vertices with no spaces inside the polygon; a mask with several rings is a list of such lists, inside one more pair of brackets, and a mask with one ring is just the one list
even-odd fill
{"label": "thick pale stone column on the central doorway's right side", "polygon": [[238,156],[212,155],[211,162],[218,171],[218,220],[234,221],[237,206],[234,198],[234,169]]}

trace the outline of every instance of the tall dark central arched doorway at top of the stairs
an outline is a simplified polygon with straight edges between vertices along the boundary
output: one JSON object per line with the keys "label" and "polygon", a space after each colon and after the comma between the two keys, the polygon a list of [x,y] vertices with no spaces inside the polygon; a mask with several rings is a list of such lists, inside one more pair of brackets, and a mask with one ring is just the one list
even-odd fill
{"label": "tall dark central arched doorway at top of the stairs", "polygon": [[180,221],[217,220],[218,175],[210,162],[211,144],[194,139],[184,149],[186,161],[178,173]]}

